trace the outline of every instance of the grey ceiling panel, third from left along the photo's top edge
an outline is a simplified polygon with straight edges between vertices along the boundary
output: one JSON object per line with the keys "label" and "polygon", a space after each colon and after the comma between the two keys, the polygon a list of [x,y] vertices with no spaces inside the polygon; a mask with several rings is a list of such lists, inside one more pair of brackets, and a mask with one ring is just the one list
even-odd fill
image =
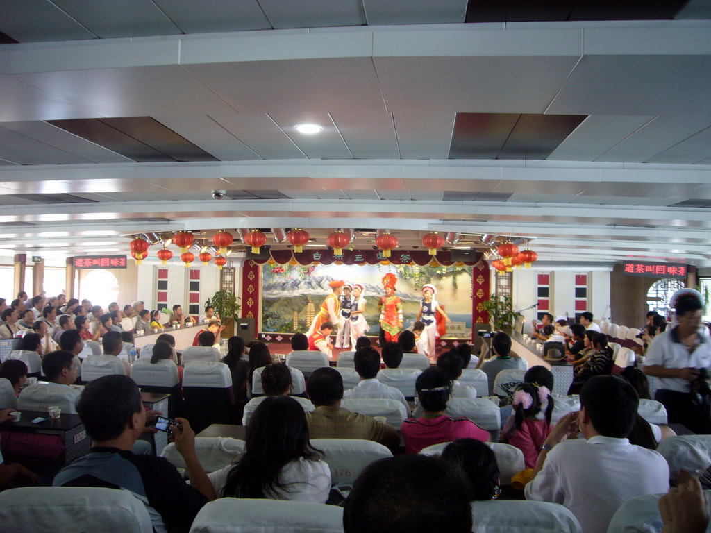
{"label": "grey ceiling panel, third from left along the photo's top edge", "polygon": [[257,0],[153,0],[184,33],[268,30]]}

